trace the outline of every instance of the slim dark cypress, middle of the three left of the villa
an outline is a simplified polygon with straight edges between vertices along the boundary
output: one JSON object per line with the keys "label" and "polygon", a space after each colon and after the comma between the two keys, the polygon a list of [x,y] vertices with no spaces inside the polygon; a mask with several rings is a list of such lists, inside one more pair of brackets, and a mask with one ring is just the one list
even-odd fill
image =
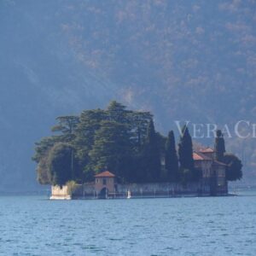
{"label": "slim dark cypress, middle of the three left of the villa", "polygon": [[178,178],[178,160],[177,151],[175,148],[175,137],[173,131],[168,133],[166,140],[166,171],[169,181],[175,182]]}

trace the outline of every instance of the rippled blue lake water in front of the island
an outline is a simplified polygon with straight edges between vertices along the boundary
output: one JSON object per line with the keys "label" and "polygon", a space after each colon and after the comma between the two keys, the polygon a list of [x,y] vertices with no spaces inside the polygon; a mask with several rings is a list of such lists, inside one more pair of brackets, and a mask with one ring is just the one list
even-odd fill
{"label": "rippled blue lake water in front of the island", "polygon": [[256,192],[49,201],[0,196],[0,255],[256,255]]}

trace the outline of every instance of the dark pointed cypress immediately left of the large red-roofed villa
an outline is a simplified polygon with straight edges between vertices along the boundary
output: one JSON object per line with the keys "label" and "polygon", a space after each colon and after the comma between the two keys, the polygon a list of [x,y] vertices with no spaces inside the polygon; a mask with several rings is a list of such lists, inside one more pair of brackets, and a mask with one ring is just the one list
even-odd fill
{"label": "dark pointed cypress immediately left of the large red-roofed villa", "polygon": [[182,170],[194,171],[193,144],[187,125],[183,126],[180,142],[178,143],[178,157]]}

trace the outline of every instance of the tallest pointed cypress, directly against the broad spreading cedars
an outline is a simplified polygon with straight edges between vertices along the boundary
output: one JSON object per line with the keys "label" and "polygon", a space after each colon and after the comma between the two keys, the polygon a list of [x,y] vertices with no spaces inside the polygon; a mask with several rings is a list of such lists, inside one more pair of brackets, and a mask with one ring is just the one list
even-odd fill
{"label": "tallest pointed cypress, directly against the broad spreading cedars", "polygon": [[144,181],[158,182],[160,181],[160,148],[157,141],[157,135],[154,131],[153,119],[148,123],[147,138],[143,150],[144,160]]}

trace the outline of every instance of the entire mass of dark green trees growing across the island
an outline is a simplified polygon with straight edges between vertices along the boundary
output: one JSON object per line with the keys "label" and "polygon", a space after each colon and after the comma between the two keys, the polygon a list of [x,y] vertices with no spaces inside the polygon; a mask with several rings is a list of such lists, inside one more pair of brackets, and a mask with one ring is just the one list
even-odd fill
{"label": "entire mass of dark green trees growing across the island", "polygon": [[[84,110],[79,116],[58,117],[52,131],[54,135],[36,143],[32,157],[42,184],[91,182],[96,173],[106,169],[120,183],[187,183],[199,177],[187,125],[177,152],[173,131],[168,137],[161,135],[155,131],[151,113],[128,110],[119,102],[110,102],[106,109]],[[240,179],[241,161],[224,154],[221,131],[215,149],[218,160],[228,165],[228,179]]]}

